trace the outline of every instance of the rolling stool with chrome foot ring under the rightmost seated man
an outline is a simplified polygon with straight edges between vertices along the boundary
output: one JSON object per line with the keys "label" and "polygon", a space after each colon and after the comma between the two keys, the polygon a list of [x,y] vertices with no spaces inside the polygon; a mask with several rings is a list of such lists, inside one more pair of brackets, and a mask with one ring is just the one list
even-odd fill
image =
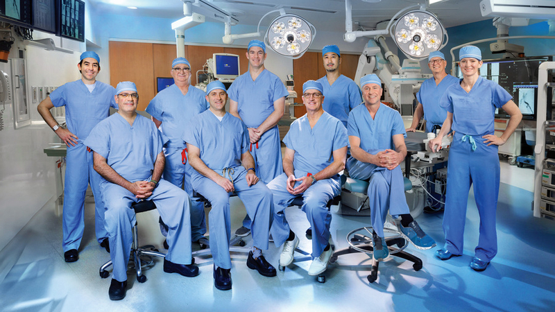
{"label": "rolling stool with chrome foot ring under the rightmost seated man", "polygon": [[[345,183],[343,184],[343,191],[364,193],[366,195],[368,184],[369,183],[367,181],[356,180],[352,179],[351,177],[347,177]],[[408,179],[408,177],[404,177],[404,191],[409,191],[410,189],[412,189],[411,181]],[[391,256],[400,257],[402,259],[413,262],[413,269],[415,271],[420,270],[422,268],[422,260],[414,256],[413,254],[409,254],[408,252],[404,251],[404,248],[407,248],[409,242],[401,236],[396,226],[387,227],[386,225],[388,223],[394,223],[393,219],[389,215],[386,223],[384,224],[384,234],[391,234],[384,238],[389,249],[389,254]],[[373,283],[377,279],[379,262],[375,261],[375,259],[373,258],[372,231],[373,227],[360,227],[349,232],[349,234],[347,234],[347,242],[349,243],[349,247],[334,252],[332,258],[330,258],[330,263],[334,263],[337,260],[337,257],[343,254],[364,252],[372,257],[372,270],[370,271],[370,275],[368,275],[367,279],[370,283]]]}

